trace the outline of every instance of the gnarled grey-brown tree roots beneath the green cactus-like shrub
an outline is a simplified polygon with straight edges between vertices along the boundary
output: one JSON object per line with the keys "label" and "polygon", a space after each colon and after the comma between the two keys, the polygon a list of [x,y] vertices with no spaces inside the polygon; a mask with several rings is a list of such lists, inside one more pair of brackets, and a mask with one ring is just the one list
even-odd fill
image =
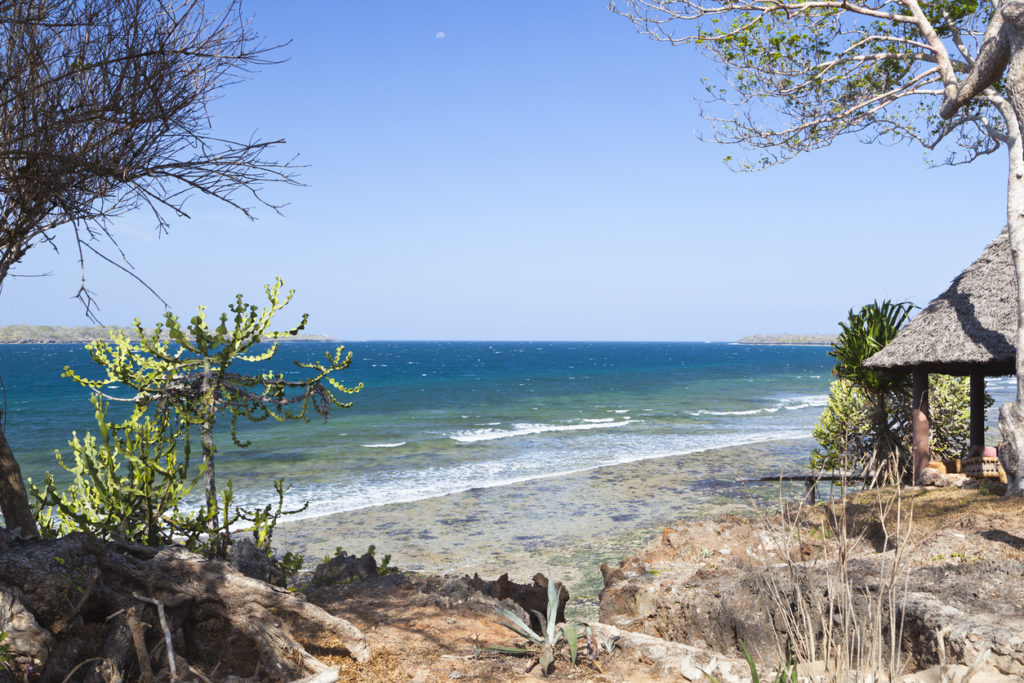
{"label": "gnarled grey-brown tree roots beneath the green cactus-like shrub", "polygon": [[370,656],[345,620],[224,562],[181,548],[0,529],[0,631],[13,655],[0,681],[13,673],[59,682],[76,667],[71,681],[166,680],[175,670],[202,680],[215,668],[216,678],[267,681],[326,673],[289,624],[336,637],[356,660]]}

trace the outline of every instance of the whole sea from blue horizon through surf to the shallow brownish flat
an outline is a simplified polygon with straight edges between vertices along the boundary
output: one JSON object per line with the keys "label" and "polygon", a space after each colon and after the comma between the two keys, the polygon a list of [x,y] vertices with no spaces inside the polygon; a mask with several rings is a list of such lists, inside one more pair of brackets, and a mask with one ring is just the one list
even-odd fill
{"label": "whole sea from blue horizon through surf to the shallow brownish flat", "polygon": [[[268,365],[335,348],[282,344]],[[291,484],[281,550],[307,557],[376,545],[407,569],[536,571],[564,580],[596,613],[601,562],[676,520],[750,513],[795,500],[801,484],[759,477],[807,468],[825,404],[823,346],[732,343],[357,342],[353,405],[327,422],[241,425],[247,449],[217,434],[217,476],[242,505]],[[78,345],[0,345],[7,438],[23,473],[55,471],[53,452],[95,429],[88,391],[60,373],[99,377]],[[1013,378],[990,380],[998,403]],[[994,424],[996,407],[990,412]],[[224,421],[226,422],[226,421]],[[197,488],[198,490],[198,488]],[[198,502],[198,498],[197,498]]]}

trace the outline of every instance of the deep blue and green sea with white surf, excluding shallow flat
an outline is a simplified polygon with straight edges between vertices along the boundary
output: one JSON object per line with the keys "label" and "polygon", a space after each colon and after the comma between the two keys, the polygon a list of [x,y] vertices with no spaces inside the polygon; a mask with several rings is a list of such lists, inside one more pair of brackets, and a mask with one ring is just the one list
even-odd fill
{"label": "deep blue and green sea with white surf, excluding shallow flat", "polygon": [[[294,372],[334,345],[290,342]],[[218,476],[240,502],[292,483],[307,515],[423,500],[597,467],[810,434],[825,403],[827,349],[727,343],[365,342],[342,374],[353,408],[324,423],[246,425],[218,441]],[[26,476],[94,428],[88,393],[59,377],[98,376],[77,345],[0,346],[6,432]],[[803,467],[806,450],[794,453]],[[760,475],[758,462],[739,474]],[[732,478],[736,472],[723,474]]]}

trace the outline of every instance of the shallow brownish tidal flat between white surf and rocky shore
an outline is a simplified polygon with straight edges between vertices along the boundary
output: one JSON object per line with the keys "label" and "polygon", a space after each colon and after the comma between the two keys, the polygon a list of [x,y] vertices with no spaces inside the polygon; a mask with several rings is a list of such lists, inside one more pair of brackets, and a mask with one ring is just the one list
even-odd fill
{"label": "shallow brownish tidal flat between white surf and rocky shore", "polygon": [[[335,549],[428,573],[537,573],[564,581],[578,617],[596,616],[602,562],[617,561],[681,518],[751,514],[751,499],[777,505],[777,483],[742,479],[800,472],[812,439],[768,441],[602,467],[556,478],[282,522],[274,547],[306,567]],[[784,484],[798,499],[803,484]]]}

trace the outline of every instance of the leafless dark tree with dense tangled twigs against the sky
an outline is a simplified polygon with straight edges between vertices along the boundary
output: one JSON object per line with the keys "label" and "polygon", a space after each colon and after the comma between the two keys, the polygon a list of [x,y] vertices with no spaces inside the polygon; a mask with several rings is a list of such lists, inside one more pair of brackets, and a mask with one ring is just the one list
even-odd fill
{"label": "leafless dark tree with dense tangled twigs against the sky", "polygon": [[[241,0],[0,0],[0,291],[34,247],[74,245],[76,294],[95,319],[87,257],[142,283],[118,245],[116,218],[136,209],[165,231],[194,196],[254,218],[278,210],[261,190],[295,183],[283,140],[228,140],[208,106],[273,63]],[[63,244],[63,243],[60,243]],[[156,292],[154,292],[156,294]],[[159,297],[158,297],[159,298]],[[162,300],[162,299],[161,299]],[[20,472],[0,431],[0,506],[36,535]]]}

